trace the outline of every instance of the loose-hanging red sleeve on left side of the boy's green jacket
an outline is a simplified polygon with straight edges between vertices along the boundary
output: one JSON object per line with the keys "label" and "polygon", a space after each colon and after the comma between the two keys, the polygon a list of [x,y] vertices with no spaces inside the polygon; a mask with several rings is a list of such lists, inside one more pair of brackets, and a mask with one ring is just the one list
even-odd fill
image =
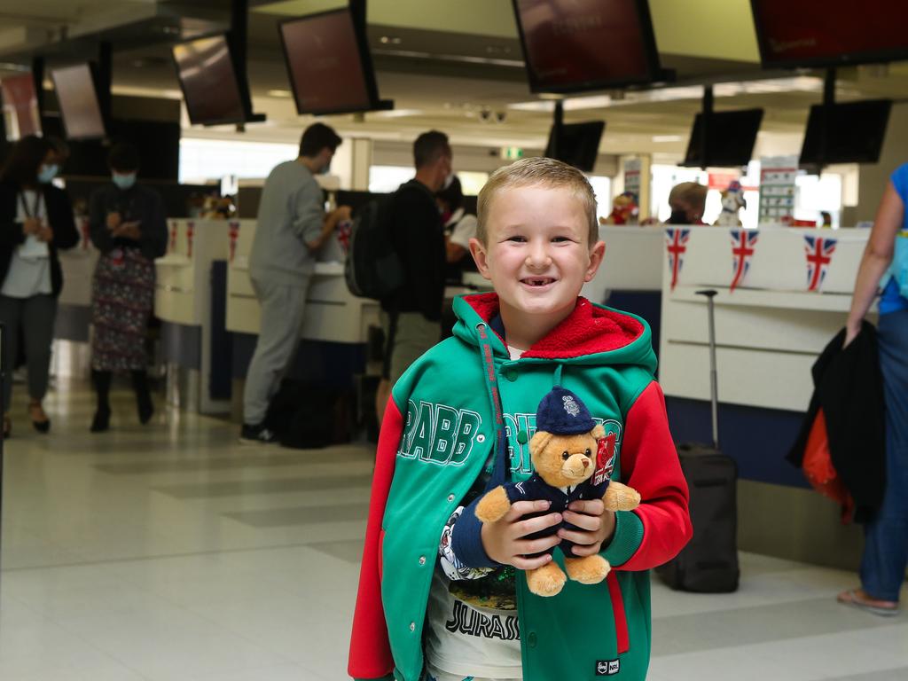
{"label": "loose-hanging red sleeve on left side of the boy's green jacket", "polygon": [[388,400],[381,422],[379,448],[372,476],[369,522],[362,550],[360,589],[353,613],[348,671],[354,678],[379,678],[394,668],[388,642],[385,611],[381,605],[381,520],[394,476],[394,460],[403,432],[403,417],[393,399]]}

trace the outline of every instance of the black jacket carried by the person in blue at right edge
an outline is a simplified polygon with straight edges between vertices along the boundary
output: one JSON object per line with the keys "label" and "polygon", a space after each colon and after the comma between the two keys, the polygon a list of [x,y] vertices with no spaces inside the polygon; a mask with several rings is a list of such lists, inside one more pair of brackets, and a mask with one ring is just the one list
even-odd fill
{"label": "black jacket carried by the person in blue at right edge", "polygon": [[786,459],[802,467],[816,412],[823,409],[829,456],[854,498],[854,520],[873,518],[886,489],[885,406],[876,329],[864,321],[847,348],[839,331],[814,362],[814,396]]}

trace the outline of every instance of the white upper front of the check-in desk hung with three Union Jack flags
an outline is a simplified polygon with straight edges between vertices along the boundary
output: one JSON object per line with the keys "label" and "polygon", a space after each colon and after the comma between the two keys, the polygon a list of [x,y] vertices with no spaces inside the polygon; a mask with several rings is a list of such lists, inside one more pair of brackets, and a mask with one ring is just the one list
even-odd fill
{"label": "white upper front of the check-in desk hung with three Union Jack flags", "polygon": [[[745,280],[735,291],[729,231],[693,227],[677,285],[663,242],[659,380],[666,395],[709,400],[706,299],[716,295],[716,361],[722,402],[806,410],[810,370],[844,326],[868,231],[759,230]],[[822,292],[807,291],[804,234],[837,240]]]}

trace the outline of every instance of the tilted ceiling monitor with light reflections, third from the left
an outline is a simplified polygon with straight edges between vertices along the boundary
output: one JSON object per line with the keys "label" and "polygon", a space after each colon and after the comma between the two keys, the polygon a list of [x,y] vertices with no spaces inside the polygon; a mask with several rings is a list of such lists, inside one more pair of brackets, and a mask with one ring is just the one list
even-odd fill
{"label": "tilted ceiling monitor with light reflections, third from the left", "polygon": [[172,52],[186,111],[193,125],[251,120],[249,91],[237,78],[226,35],[175,44]]}

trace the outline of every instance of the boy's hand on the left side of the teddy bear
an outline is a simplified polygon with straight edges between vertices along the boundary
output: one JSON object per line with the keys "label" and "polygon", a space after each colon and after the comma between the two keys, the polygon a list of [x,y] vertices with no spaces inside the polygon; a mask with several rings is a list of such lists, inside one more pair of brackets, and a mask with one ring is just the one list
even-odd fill
{"label": "boy's hand on the left side of the teddy bear", "polygon": [[483,523],[482,548],[486,549],[489,558],[502,565],[512,565],[520,570],[541,568],[551,562],[552,557],[549,554],[537,558],[524,558],[530,554],[546,551],[561,542],[561,539],[555,534],[538,539],[525,538],[527,535],[561,522],[560,513],[523,519],[528,513],[545,511],[549,506],[551,504],[548,501],[518,501],[511,506],[504,518],[493,523]]}

